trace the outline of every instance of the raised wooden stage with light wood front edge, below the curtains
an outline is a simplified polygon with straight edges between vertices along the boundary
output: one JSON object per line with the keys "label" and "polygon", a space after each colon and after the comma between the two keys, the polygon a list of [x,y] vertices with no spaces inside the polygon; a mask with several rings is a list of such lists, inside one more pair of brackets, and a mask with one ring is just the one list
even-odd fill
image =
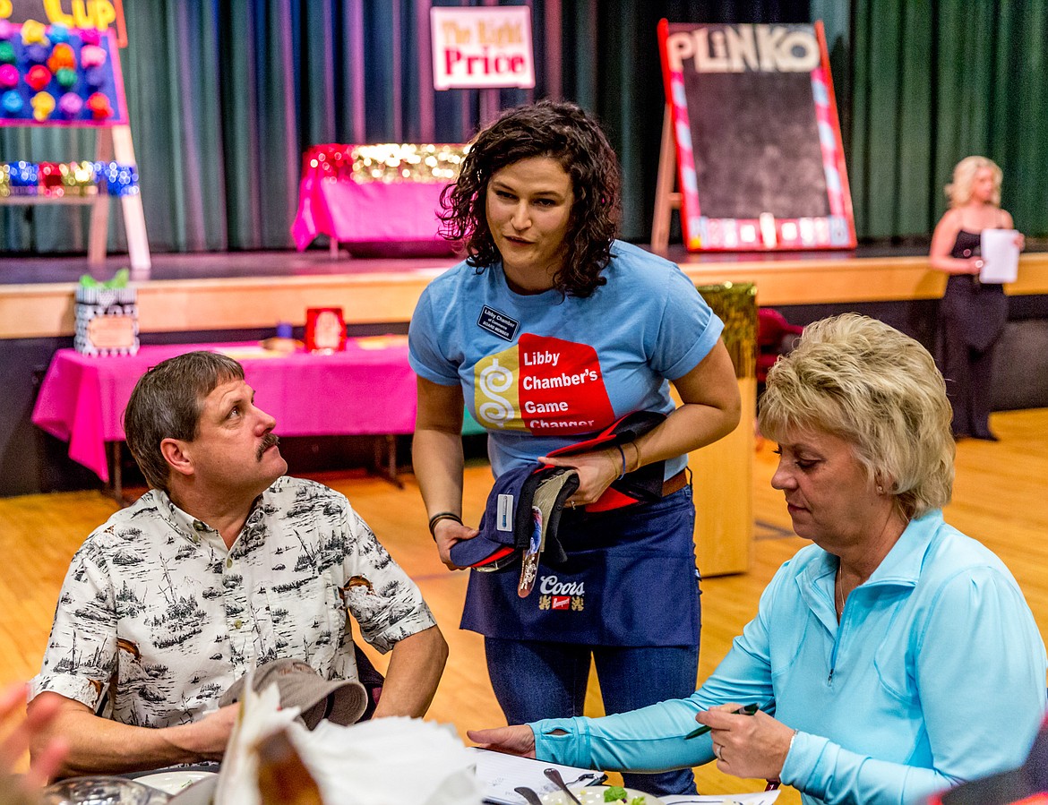
{"label": "raised wooden stage with light wood front edge, below the curtains", "polygon": [[[1048,293],[1048,251],[1031,245],[1013,295]],[[922,246],[854,252],[687,254],[669,257],[697,284],[754,282],[766,306],[937,299],[944,275]],[[138,320],[151,332],[271,328],[302,324],[305,309],[341,306],[350,324],[405,324],[422,288],[454,257],[351,258],[326,251],[154,255],[138,287]],[[0,262],[0,340],[70,335],[72,291],[83,274],[108,279],[125,256],[90,269],[83,256],[5,256]]]}

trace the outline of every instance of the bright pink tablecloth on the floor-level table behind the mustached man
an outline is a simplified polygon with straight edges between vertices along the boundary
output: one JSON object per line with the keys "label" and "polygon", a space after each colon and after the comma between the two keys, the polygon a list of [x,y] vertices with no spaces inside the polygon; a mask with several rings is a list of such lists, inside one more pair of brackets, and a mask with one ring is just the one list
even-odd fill
{"label": "bright pink tablecloth on the floor-level table behind the mustached man", "polygon": [[412,433],[415,374],[406,335],[350,339],[345,352],[252,356],[257,344],[143,347],[94,357],[60,349],[47,369],[32,421],[69,442],[69,457],[109,481],[106,442],[123,441],[124,408],[135,383],[165,358],[195,349],[228,351],[244,367],[259,408],[280,436]]}

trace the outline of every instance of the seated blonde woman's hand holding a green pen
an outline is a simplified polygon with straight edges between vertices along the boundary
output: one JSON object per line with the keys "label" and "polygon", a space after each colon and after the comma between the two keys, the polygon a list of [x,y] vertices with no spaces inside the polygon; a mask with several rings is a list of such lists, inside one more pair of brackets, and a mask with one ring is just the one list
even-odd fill
{"label": "seated blonde woman's hand holding a green pen", "polygon": [[778,780],[794,731],[762,711],[752,716],[736,714],[741,706],[721,704],[695,717],[712,727],[717,768],[736,777]]}

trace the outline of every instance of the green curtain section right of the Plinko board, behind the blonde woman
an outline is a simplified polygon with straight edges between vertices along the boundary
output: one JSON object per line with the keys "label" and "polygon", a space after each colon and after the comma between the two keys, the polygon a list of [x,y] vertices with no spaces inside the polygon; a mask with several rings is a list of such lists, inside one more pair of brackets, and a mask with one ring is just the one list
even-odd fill
{"label": "green curtain section right of the Plinko board, behind the blonde woman", "polygon": [[1017,226],[1048,234],[1045,0],[855,0],[852,15],[859,234],[930,233],[946,208],[943,186],[969,154],[1003,169],[1002,203]]}

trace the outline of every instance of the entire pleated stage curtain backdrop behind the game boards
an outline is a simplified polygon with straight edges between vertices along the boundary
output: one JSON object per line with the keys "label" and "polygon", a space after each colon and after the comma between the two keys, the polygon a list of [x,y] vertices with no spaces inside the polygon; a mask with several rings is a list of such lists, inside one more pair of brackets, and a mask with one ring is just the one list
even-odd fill
{"label": "entire pleated stage curtain backdrop behind the game boards", "polygon": [[[522,0],[499,0],[517,4]],[[431,4],[485,0],[126,0],[122,52],[151,247],[289,248],[303,151],[464,142],[475,90],[434,92]],[[543,97],[547,3],[531,0]],[[625,174],[623,236],[651,234],[662,91],[656,25],[822,19],[860,238],[926,237],[962,157],[1005,172],[1004,205],[1048,234],[1048,0],[560,0],[563,97],[605,123]],[[94,132],[0,129],[0,161],[91,158]],[[115,204],[114,204],[115,208]],[[0,249],[86,249],[82,208],[0,208]],[[125,248],[118,210],[110,248]]]}

